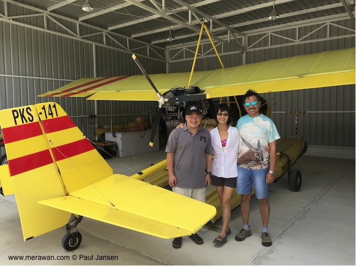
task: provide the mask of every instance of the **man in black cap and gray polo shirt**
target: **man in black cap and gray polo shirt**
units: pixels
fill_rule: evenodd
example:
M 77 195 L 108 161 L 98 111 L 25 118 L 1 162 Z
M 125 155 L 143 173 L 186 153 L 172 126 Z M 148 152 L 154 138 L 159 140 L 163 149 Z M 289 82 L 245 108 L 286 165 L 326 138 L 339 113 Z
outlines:
M 201 202 L 205 202 L 205 189 L 210 185 L 210 168 L 213 147 L 210 133 L 200 126 L 203 113 L 198 105 L 190 105 L 185 112 L 183 128 L 174 129 L 167 141 L 167 168 L 172 191 Z M 203 239 L 189 236 L 197 244 Z M 182 238 L 175 238 L 174 248 L 182 246 Z

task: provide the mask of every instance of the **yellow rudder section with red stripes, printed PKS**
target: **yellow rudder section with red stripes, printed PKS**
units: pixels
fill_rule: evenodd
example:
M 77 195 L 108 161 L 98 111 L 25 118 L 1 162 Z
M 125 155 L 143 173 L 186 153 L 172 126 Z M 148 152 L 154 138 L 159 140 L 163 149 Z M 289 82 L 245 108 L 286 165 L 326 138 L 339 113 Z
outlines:
M 66 194 L 35 106 L 1 110 L 0 127 L 24 240 L 67 224 L 71 213 L 38 204 Z

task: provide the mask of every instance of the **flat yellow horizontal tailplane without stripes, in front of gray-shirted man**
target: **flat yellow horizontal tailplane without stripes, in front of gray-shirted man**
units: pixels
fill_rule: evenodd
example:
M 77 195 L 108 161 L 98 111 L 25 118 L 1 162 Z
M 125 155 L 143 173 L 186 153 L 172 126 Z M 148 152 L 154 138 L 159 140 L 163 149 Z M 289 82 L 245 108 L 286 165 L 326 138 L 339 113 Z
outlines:
M 119 174 L 40 203 L 164 239 L 195 234 L 216 214 L 211 205 Z

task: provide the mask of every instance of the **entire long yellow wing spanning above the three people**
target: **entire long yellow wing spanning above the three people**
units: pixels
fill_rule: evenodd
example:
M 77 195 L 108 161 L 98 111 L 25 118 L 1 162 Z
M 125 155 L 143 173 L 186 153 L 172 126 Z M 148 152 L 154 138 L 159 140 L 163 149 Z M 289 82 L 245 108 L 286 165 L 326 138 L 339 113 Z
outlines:
M 190 72 L 152 74 L 160 93 L 188 85 Z M 300 55 L 210 71 L 196 71 L 191 81 L 211 97 L 300 90 L 355 84 L 355 48 Z M 81 79 L 39 96 L 88 96 L 90 100 L 152 100 L 157 96 L 143 75 Z

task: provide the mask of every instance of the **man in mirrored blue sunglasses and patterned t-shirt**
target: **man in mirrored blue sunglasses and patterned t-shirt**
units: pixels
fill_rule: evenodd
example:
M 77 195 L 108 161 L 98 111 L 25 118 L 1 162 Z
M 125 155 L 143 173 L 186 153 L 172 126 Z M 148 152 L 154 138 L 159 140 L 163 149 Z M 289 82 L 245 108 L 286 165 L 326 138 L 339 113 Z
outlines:
M 276 140 L 280 138 L 273 121 L 260 113 L 261 97 L 253 90 L 243 96 L 247 115 L 237 123 L 240 133 L 238 153 L 237 193 L 241 195 L 241 216 L 243 229 L 236 235 L 236 241 L 243 241 L 251 236 L 248 224 L 252 184 L 260 202 L 262 216 L 262 245 L 269 247 L 272 240 L 268 232 L 270 204 L 268 202 L 268 184 L 274 182 L 276 164 Z M 266 146 L 270 146 L 270 153 Z

